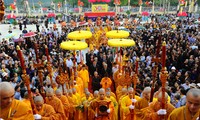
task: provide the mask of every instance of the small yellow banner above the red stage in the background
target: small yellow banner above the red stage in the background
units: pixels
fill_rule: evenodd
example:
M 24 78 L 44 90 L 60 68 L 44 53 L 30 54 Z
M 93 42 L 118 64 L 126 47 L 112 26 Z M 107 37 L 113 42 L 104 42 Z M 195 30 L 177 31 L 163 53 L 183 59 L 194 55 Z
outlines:
M 107 4 L 92 5 L 92 12 L 108 12 L 108 5 Z

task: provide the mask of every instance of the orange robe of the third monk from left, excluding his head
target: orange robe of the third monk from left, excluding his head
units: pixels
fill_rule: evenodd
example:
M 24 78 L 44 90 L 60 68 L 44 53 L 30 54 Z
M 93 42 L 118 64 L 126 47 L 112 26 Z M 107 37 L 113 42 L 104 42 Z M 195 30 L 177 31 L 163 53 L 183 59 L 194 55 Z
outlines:
M 65 112 L 64 112 L 64 106 L 63 106 L 60 99 L 53 96 L 53 100 L 51 100 L 51 101 L 46 99 L 46 104 L 49 104 L 54 108 L 54 110 L 56 111 L 56 116 L 57 116 L 58 119 L 60 119 L 60 120 L 66 119 Z

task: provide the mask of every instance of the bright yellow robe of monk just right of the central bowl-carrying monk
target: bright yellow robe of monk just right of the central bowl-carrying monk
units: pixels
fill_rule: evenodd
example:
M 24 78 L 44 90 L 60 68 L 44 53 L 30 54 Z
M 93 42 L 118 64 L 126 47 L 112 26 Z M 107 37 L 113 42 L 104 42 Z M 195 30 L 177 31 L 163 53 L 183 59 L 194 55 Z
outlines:
M 139 100 L 140 97 L 139 96 L 135 96 L 135 99 Z M 128 95 L 122 98 L 122 100 L 121 100 L 121 110 L 123 112 L 122 120 L 132 120 L 131 118 L 133 118 L 133 117 L 135 119 L 134 110 L 132 111 L 132 110 L 129 109 L 129 106 L 131 104 L 132 104 L 132 100 L 129 98 Z

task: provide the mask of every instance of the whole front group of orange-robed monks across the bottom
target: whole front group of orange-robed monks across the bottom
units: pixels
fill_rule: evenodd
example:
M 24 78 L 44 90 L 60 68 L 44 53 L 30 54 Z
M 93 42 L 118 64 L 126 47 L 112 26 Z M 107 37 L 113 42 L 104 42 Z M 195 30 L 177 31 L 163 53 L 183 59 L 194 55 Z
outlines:
M 132 87 L 123 87 L 114 94 L 109 88 L 101 88 L 94 94 L 85 89 L 81 96 L 75 88 L 63 94 L 62 90 L 46 89 L 46 98 L 34 97 L 32 110 L 27 93 L 24 100 L 13 99 L 14 89 L 8 82 L 0 83 L 1 120 L 198 120 L 200 115 L 200 89 L 190 89 L 185 106 L 176 108 L 165 93 L 165 109 L 162 109 L 162 92 L 157 92 L 153 102 L 150 87 L 141 96 L 134 95 Z M 35 113 L 33 114 L 33 111 Z

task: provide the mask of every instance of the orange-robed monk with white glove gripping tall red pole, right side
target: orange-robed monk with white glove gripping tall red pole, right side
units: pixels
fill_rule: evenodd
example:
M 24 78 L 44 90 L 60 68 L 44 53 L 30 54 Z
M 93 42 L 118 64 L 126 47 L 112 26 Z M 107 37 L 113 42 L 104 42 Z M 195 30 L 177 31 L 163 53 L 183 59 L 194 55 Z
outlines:
M 170 113 L 175 109 L 175 107 L 167 102 L 168 94 L 165 93 L 165 109 L 162 109 L 162 92 L 158 94 L 158 100 L 151 102 L 149 107 L 143 110 L 144 117 L 142 120 L 161 120 L 162 117 L 168 118 Z

